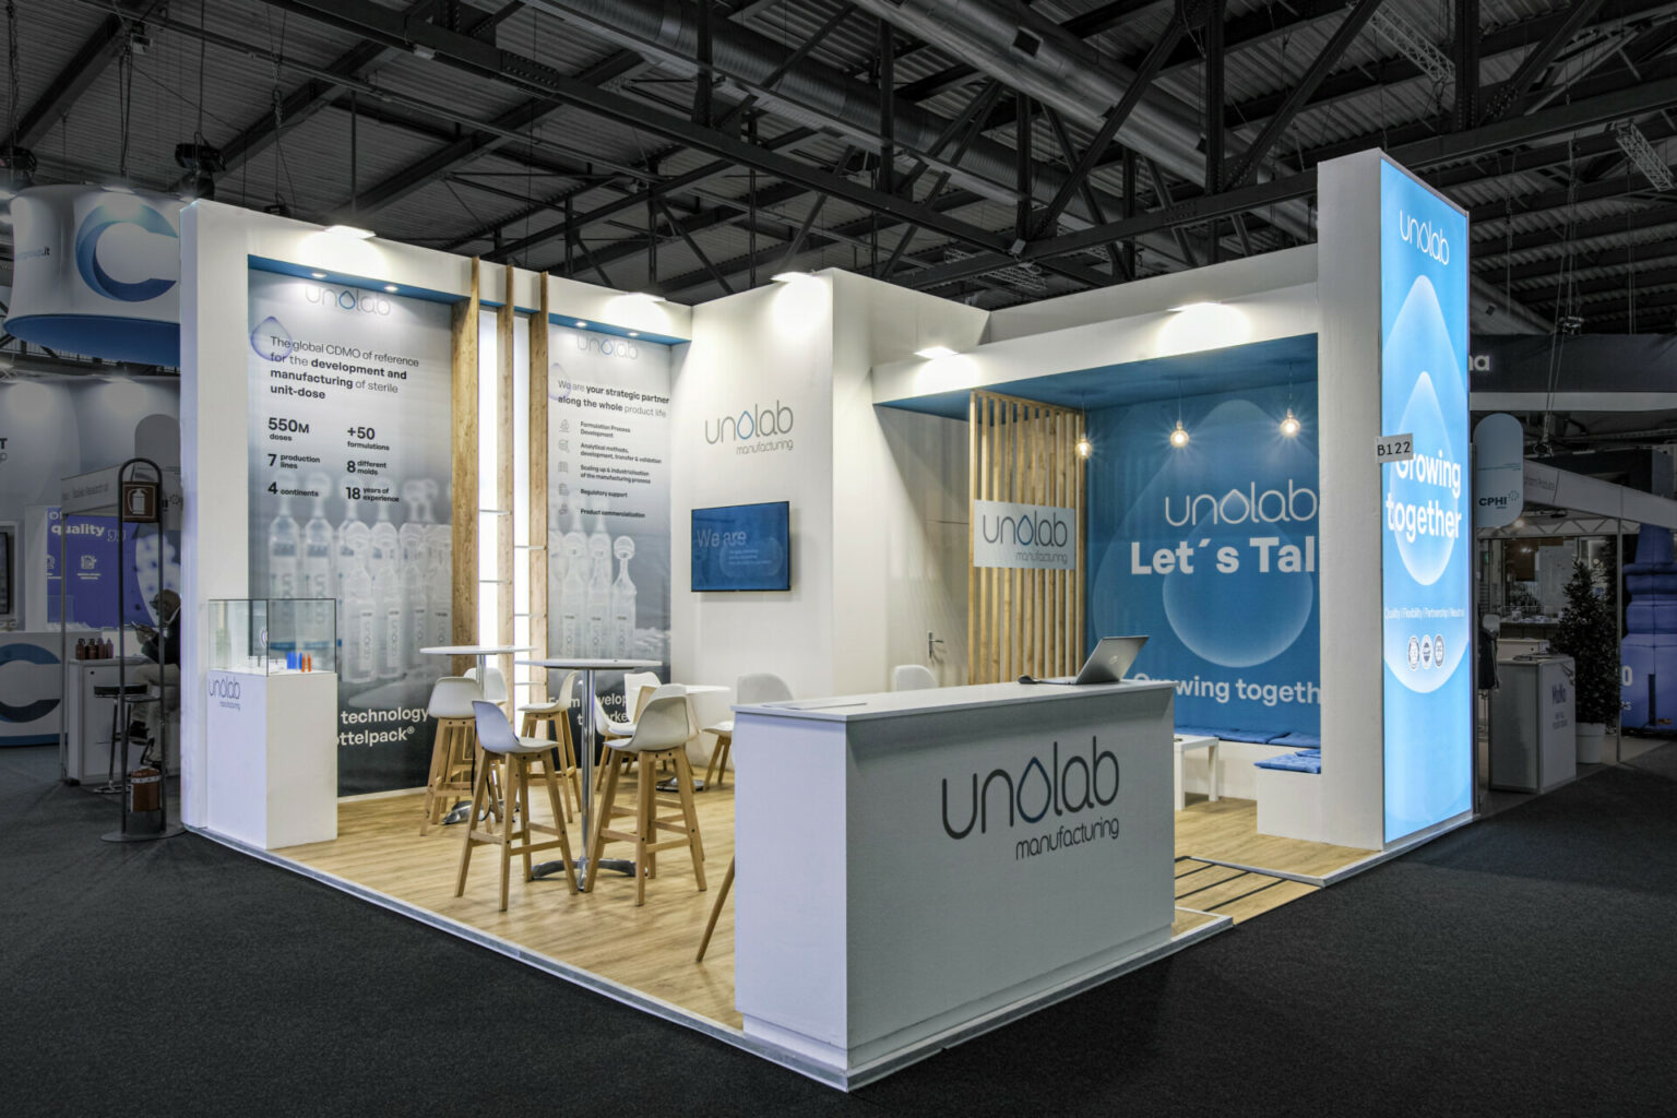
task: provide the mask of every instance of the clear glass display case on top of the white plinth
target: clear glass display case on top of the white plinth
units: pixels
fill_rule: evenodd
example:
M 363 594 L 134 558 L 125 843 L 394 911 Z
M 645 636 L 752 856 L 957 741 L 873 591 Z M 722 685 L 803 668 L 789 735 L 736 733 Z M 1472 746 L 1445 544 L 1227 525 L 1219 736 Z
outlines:
M 337 670 L 332 598 L 213 598 L 210 670 L 278 675 Z

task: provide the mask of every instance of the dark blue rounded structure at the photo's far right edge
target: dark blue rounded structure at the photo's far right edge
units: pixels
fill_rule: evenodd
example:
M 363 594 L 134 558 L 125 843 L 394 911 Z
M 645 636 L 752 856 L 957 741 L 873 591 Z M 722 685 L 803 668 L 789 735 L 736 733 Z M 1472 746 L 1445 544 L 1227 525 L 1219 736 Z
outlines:
M 1637 562 L 1625 565 L 1625 642 L 1620 694 L 1625 729 L 1670 729 L 1677 717 L 1677 562 L 1672 533 L 1642 526 Z

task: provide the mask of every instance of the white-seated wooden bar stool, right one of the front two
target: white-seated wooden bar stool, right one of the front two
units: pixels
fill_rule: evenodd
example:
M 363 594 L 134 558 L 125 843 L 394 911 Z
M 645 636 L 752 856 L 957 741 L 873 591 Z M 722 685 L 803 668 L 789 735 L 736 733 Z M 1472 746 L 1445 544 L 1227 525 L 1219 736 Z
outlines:
M 594 841 L 589 857 L 599 862 L 605 843 L 634 843 L 634 902 L 646 903 L 646 878 L 657 870 L 657 851 L 686 846 L 693 855 L 693 877 L 704 888 L 704 843 L 699 840 L 699 816 L 693 808 L 693 769 L 688 766 L 688 699 L 681 687 L 659 687 L 636 719 L 634 736 L 627 741 L 605 743 L 609 764 L 605 786 L 600 791 L 600 810 L 594 825 Z M 641 761 L 636 776 L 636 808 L 619 808 L 614 801 L 619 779 L 619 754 Z M 656 791 L 654 768 L 659 761 L 676 766 L 676 800 L 661 798 Z M 679 815 L 659 815 L 659 808 L 678 808 Z M 612 818 L 632 816 L 634 831 L 622 831 L 607 823 Z M 678 838 L 659 840 L 659 831 Z M 584 892 L 594 892 L 599 873 L 589 873 Z

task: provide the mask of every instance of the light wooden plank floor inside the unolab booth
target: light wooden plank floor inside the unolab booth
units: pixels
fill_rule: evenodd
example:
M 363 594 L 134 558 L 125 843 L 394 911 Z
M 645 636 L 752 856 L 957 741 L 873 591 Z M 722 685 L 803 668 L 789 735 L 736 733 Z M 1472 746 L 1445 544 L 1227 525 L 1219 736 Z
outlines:
M 632 805 L 626 781 L 619 803 Z M 535 816 L 550 820 L 545 798 L 532 789 Z M 523 882 L 518 862 L 506 912 L 496 910 L 500 863 L 493 846 L 478 846 L 465 897 L 454 897 L 461 828 L 433 828 L 419 835 L 419 793 L 339 805 L 339 836 L 329 843 L 278 851 L 302 865 L 387 893 L 451 920 L 506 939 L 560 962 L 622 982 L 689 1012 L 740 1027 L 733 1006 L 733 905 L 723 908 L 703 964 L 693 962 L 714 890 L 733 858 L 733 783 L 694 798 L 704 838 L 704 875 L 709 888 L 698 892 L 684 851 L 664 851 L 657 877 L 647 882 L 646 905 L 634 905 L 634 880 L 602 875 L 594 895 L 565 892 L 563 877 Z M 1315 892 L 1310 885 L 1239 873 L 1191 860 L 1192 853 L 1229 862 L 1296 868 L 1320 873 L 1338 868 L 1367 851 L 1345 851 L 1318 843 L 1259 838 L 1256 806 L 1224 800 L 1189 805 L 1176 816 L 1177 903 L 1172 935 L 1209 924 L 1218 915 L 1246 920 Z M 570 825 L 572 843 L 579 826 Z M 607 846 L 607 857 L 627 855 L 626 845 Z M 540 862 L 557 851 L 538 853 Z M 1186 858 L 1186 860 L 1184 860 Z M 1285 865 L 1281 865 L 1285 863 Z M 1187 873 L 1199 870 L 1197 873 Z M 1216 914 L 1216 915 L 1207 915 Z

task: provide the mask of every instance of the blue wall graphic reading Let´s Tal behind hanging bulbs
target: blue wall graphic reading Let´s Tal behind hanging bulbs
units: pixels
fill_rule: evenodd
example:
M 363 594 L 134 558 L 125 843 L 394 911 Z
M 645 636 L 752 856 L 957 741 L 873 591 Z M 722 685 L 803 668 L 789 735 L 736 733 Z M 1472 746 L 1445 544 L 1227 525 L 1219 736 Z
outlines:
M 1088 412 L 1090 642 L 1147 634 L 1130 677 L 1177 681 L 1179 727 L 1320 734 L 1316 382 L 1300 374 Z

